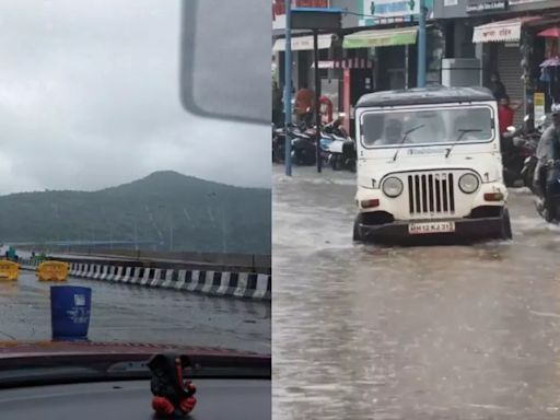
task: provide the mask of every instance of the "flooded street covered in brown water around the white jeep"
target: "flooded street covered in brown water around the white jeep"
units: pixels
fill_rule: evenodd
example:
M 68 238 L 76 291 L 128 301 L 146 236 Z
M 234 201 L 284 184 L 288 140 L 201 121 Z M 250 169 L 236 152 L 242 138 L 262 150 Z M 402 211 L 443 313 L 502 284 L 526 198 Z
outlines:
M 560 418 L 560 230 L 529 192 L 513 242 L 382 248 L 354 191 L 275 167 L 273 418 Z

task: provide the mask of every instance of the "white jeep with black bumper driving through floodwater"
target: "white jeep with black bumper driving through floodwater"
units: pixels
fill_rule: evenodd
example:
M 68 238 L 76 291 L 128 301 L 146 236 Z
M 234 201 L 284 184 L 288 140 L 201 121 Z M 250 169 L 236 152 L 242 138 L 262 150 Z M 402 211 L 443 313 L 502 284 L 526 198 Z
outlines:
M 354 241 L 512 237 L 489 90 L 372 93 L 359 100 L 355 121 Z

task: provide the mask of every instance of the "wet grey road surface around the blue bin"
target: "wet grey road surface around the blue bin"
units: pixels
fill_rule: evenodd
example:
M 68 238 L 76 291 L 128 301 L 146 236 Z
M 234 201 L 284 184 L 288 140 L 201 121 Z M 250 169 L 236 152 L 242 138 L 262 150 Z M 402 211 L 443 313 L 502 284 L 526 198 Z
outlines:
M 270 353 L 270 304 L 72 279 L 92 288 L 91 340 L 223 347 Z M 32 271 L 0 282 L 0 340 L 50 339 L 49 287 Z

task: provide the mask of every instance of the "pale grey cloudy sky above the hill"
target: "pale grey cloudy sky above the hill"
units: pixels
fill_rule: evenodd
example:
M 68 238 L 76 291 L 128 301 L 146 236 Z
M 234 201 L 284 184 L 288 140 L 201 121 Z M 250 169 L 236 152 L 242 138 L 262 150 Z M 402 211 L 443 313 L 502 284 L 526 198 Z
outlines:
M 179 12 L 178 0 L 0 2 L 0 194 L 160 170 L 270 186 L 269 126 L 182 108 Z

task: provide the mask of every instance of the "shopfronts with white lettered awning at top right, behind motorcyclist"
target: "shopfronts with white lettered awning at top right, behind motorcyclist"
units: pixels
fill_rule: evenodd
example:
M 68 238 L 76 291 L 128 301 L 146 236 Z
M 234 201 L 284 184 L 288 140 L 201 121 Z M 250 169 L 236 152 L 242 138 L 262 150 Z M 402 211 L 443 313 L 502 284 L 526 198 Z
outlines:
M 445 58 L 477 59 L 482 85 L 498 72 L 508 95 L 523 102 L 515 124 L 560 103 L 560 1 L 435 0 L 434 18 L 444 27 Z

